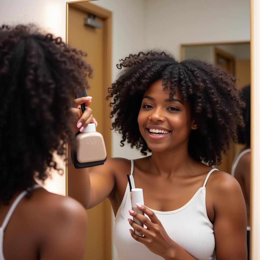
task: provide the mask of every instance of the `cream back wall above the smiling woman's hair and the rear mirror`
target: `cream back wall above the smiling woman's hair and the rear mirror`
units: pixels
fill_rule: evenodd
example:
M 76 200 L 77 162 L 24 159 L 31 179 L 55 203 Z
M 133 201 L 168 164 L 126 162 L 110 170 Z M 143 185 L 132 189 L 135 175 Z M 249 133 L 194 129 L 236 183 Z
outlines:
M 250 40 L 249 0 L 147 0 L 146 45 L 179 58 L 180 44 Z

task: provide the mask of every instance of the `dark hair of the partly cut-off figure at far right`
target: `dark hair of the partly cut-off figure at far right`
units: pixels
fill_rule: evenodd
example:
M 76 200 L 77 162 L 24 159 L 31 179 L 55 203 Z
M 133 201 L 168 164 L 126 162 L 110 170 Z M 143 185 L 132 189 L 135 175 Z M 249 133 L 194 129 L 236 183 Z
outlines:
M 251 98 L 250 98 L 250 85 L 245 86 L 244 88 L 242 88 L 242 98 L 245 102 L 245 108 L 243 109 L 243 118 L 244 118 L 244 122 L 245 122 L 245 126 L 244 127 L 239 127 L 238 128 L 238 142 L 240 144 L 245 144 L 247 146 L 250 146 L 250 124 L 251 124 L 251 120 L 250 120 L 250 115 L 251 115 Z

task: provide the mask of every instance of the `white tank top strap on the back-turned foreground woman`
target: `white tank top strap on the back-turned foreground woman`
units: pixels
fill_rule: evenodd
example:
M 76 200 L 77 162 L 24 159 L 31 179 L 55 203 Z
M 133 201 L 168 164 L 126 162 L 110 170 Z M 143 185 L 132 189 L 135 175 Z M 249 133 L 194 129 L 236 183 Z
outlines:
M 31 188 L 29 188 L 30 190 L 34 190 L 37 188 L 42 188 L 41 185 L 39 184 L 35 184 L 33 185 Z M 16 208 L 16 206 L 18 205 L 18 203 L 21 201 L 21 199 L 27 194 L 27 191 L 23 191 L 20 193 L 19 196 L 17 196 L 17 198 L 14 200 L 14 202 L 12 203 L 9 211 L 7 212 L 4 221 L 2 223 L 2 226 L 0 226 L 0 260 L 5 260 L 4 258 L 4 230 L 12 216 L 12 214 L 14 213 L 14 210 Z M 15 234 L 14 234 L 15 235 Z

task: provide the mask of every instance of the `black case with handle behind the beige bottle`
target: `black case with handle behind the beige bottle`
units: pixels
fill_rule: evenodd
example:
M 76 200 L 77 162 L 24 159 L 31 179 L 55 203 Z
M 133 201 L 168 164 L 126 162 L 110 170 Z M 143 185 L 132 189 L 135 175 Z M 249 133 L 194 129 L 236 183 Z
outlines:
M 85 90 L 78 90 L 77 94 L 76 94 L 76 99 L 77 98 L 80 98 L 80 97 L 86 97 L 87 96 L 87 93 Z M 81 104 L 81 110 L 82 110 L 82 113 L 84 113 L 85 111 L 85 104 Z M 76 135 L 75 135 L 75 139 L 77 137 L 78 134 L 81 134 L 81 132 L 77 132 Z M 87 167 L 93 167 L 93 166 L 97 166 L 97 165 L 102 165 L 104 164 L 104 162 L 106 161 L 107 158 L 105 158 L 104 160 L 100 160 L 100 161 L 91 161 L 91 162 L 79 162 L 77 160 L 77 152 L 73 149 L 71 149 L 71 159 L 72 159 L 72 162 L 74 164 L 74 167 L 76 169 L 80 169 L 80 168 L 87 168 Z

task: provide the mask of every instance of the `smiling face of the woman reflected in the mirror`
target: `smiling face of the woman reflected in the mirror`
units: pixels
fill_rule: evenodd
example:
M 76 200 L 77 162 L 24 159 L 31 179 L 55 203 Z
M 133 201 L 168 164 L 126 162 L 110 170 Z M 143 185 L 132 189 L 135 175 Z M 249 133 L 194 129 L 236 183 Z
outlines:
M 170 91 L 163 90 L 161 83 L 161 79 L 155 81 L 144 93 L 138 115 L 141 135 L 152 151 L 184 149 L 197 123 L 191 116 L 190 103 L 183 102 L 179 89 L 169 99 Z

